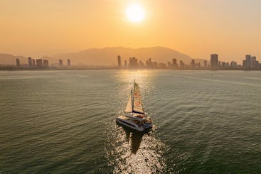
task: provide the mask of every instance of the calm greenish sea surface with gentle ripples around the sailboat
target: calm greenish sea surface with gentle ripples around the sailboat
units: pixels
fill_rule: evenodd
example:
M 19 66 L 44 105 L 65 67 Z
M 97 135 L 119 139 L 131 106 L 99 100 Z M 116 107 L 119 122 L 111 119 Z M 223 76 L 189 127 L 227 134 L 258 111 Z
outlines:
M 134 80 L 151 134 L 115 124 Z M 261 173 L 261 72 L 0 72 L 0 173 Z

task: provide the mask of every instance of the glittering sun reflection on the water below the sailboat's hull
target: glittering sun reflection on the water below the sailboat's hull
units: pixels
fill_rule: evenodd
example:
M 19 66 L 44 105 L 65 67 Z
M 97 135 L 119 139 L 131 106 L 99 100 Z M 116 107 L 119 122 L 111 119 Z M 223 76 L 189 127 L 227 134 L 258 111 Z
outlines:
M 165 146 L 153 134 L 132 134 L 117 127 L 111 141 L 113 148 L 107 151 L 114 173 L 163 173 Z

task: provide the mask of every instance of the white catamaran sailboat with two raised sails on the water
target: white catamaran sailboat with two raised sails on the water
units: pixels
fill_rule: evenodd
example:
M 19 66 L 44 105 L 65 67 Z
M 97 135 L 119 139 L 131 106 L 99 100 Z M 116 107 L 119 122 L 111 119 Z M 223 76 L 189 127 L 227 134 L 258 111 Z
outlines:
M 134 81 L 124 115 L 116 119 L 116 123 L 130 131 L 146 133 L 151 131 L 151 119 L 145 114 L 142 104 L 142 94 L 139 85 Z

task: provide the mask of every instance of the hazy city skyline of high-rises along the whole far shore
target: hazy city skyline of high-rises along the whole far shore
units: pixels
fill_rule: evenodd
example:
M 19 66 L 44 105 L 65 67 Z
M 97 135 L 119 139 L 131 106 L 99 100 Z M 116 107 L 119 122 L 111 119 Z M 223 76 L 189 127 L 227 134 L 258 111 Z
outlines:
M 124 63 L 124 64 L 123 64 Z M 32 59 L 28 57 L 28 64 L 21 64 L 20 59 L 16 58 L 16 65 L 0 65 L 0 70 L 78 70 L 78 69 L 169 69 L 169 70 L 261 70 L 261 63 L 255 56 L 245 55 L 242 65 L 238 64 L 234 60 L 231 62 L 225 62 L 218 60 L 218 54 L 211 54 L 210 60 L 203 60 L 203 62 L 196 62 L 195 59 L 191 59 L 189 64 L 176 58 L 172 58 L 168 62 L 156 62 L 151 58 L 148 58 L 145 62 L 138 60 L 135 57 L 129 58 L 129 63 L 126 59 L 122 60 L 121 55 L 117 55 L 117 65 L 112 66 L 82 66 L 74 65 L 71 67 L 70 59 L 67 60 L 67 65 L 63 65 L 63 59 L 58 60 L 58 64 L 52 64 L 49 66 L 49 60 L 46 59 Z

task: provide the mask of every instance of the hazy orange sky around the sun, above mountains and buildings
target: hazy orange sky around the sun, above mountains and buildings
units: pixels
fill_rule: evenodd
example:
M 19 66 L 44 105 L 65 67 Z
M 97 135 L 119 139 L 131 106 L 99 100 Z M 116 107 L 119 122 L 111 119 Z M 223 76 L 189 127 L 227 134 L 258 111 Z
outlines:
M 144 21 L 126 17 L 129 4 Z M 0 0 L 0 53 L 166 46 L 193 58 L 261 58 L 260 0 Z

